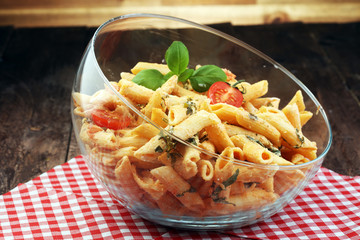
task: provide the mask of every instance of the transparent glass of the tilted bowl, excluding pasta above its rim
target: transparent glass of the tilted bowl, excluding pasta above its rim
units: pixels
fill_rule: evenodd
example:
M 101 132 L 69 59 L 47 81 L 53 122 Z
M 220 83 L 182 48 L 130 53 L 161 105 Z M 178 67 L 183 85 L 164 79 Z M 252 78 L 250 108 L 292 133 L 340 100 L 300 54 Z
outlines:
M 230 157 L 220 157 L 173 135 L 146 117 L 136 102 L 119 92 L 116 83 L 121 72 L 130 72 L 139 61 L 164 63 L 165 50 L 175 40 L 187 46 L 189 67 L 214 64 L 231 70 L 237 79 L 245 79 L 249 83 L 266 79 L 269 83 L 267 96 L 280 98 L 280 109 L 297 90 L 302 90 L 306 110 L 314 113 L 302 131 L 308 139 L 317 143 L 317 158 L 301 164 L 278 166 L 234 159 L 231 154 Z M 144 127 L 133 130 L 136 126 L 130 125 L 117 131 L 96 127 L 91 117 L 93 102 L 107 104 L 111 110 L 120 105 Z M 149 221 L 196 230 L 238 228 L 277 213 L 314 177 L 332 139 L 323 108 L 284 67 L 246 43 L 210 27 L 153 14 L 120 16 L 97 29 L 86 48 L 74 82 L 72 120 L 90 171 L 113 198 Z M 127 120 L 124 118 L 124 122 Z M 126 135 L 131 130 L 132 135 Z M 134 151 L 150 142 L 154 134 L 163 141 L 170 139 L 176 142 L 177 148 L 190 149 L 201 159 L 209 160 L 213 166 L 196 166 L 198 171 L 203 169 L 205 175 L 211 172 L 211 168 L 215 171 L 216 161 L 221 162 L 218 168 L 230 166 L 239 169 L 237 187 L 232 187 L 238 189 L 238 194 L 234 190 L 232 202 L 226 198 L 229 195 L 225 193 L 227 185 L 224 182 L 231 182 L 229 179 L 234 174 L 221 181 L 217 175 L 217 180 L 213 178 L 212 182 L 196 180 L 195 177 L 181 177 L 179 180 L 179 174 L 174 177 L 173 173 L 179 167 L 176 168 L 174 162 L 170 165 L 159 162 L 159 152 L 156 157 L 148 155 L 144 159 L 136 159 Z M 176 161 L 182 161 L 183 155 L 178 157 L 181 159 Z M 163 166 L 170 167 L 153 171 Z M 159 178 L 162 179 L 161 184 Z M 232 184 L 235 185 L 234 182 Z

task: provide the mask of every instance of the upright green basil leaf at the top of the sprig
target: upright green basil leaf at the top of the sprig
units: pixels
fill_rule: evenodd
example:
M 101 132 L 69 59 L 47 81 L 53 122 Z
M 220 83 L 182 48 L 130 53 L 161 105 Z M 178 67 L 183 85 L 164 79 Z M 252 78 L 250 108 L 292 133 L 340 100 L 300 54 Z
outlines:
M 165 60 L 169 69 L 180 75 L 189 65 L 189 51 L 182 42 L 174 41 L 166 50 Z

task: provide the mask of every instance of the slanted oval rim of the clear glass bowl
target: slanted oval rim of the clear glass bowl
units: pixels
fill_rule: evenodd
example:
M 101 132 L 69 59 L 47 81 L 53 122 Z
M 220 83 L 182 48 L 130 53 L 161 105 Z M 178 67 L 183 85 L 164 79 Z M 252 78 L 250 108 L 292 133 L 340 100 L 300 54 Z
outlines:
M 315 103 L 315 105 L 317 106 L 317 113 L 321 113 L 328 132 L 329 132 L 329 138 L 328 138 L 328 142 L 327 145 L 325 147 L 325 149 L 317 156 L 317 158 L 315 158 L 314 160 L 311 160 L 309 162 L 306 163 L 301 163 L 301 164 L 294 164 L 294 165 L 266 165 L 266 164 L 259 164 L 259 163 L 252 163 L 252 162 L 247 162 L 244 160 L 239 160 L 239 159 L 235 159 L 235 158 L 230 158 L 230 157 L 226 157 L 226 156 L 221 156 L 220 154 L 217 153 L 211 153 L 206 151 L 203 148 L 200 148 L 190 142 L 184 141 L 182 139 L 180 139 L 179 137 L 173 135 L 171 132 L 165 130 L 164 128 L 162 128 L 161 126 L 157 125 L 156 123 L 154 123 L 151 119 L 149 119 L 148 117 L 146 117 L 143 113 L 141 113 L 135 106 L 133 106 L 129 101 L 127 101 L 127 99 L 125 99 L 118 91 L 116 91 L 116 89 L 111 85 L 110 81 L 107 79 L 107 77 L 105 76 L 105 74 L 103 73 L 103 71 L 101 70 L 98 61 L 96 60 L 96 56 L 95 56 L 95 52 L 94 52 L 94 47 L 95 47 L 95 42 L 97 39 L 97 36 L 99 35 L 99 33 L 101 32 L 101 30 L 103 28 L 105 28 L 106 26 L 108 26 L 109 24 L 116 22 L 116 21 L 120 21 L 120 20 L 125 20 L 125 19 L 131 19 L 131 18 L 156 18 L 156 19 L 163 19 L 163 20 L 169 20 L 169 21 L 175 21 L 175 22 L 180 22 L 180 23 L 184 23 L 187 24 L 189 26 L 195 27 L 197 29 L 206 31 L 206 32 L 210 32 L 212 34 L 215 34 L 221 38 L 224 38 L 236 45 L 239 45 L 243 48 L 245 48 L 246 50 L 256 54 L 258 57 L 268 61 L 269 63 L 271 63 L 274 68 L 282 71 L 284 74 L 286 74 L 288 77 L 290 77 L 303 91 L 306 92 L 306 94 L 310 97 L 310 99 Z M 313 165 L 319 161 L 322 161 L 325 157 L 325 155 L 328 153 L 331 144 L 332 144 L 332 139 L 333 139 L 333 134 L 332 134 L 332 129 L 331 129 L 331 125 L 330 122 L 328 120 L 328 117 L 325 113 L 324 108 L 321 106 L 321 104 L 319 103 L 319 101 L 316 99 L 316 97 L 312 94 L 312 92 L 305 86 L 305 84 L 303 84 L 297 77 L 295 77 L 289 70 L 287 70 L 285 67 L 283 67 L 281 64 L 279 64 L 278 62 L 276 62 L 275 60 L 273 60 L 272 58 L 270 58 L 269 56 L 267 56 L 266 54 L 262 53 L 261 51 L 257 50 L 256 48 L 250 46 L 249 44 L 241 41 L 240 39 L 237 39 L 227 33 L 224 33 L 222 31 L 219 31 L 217 29 L 214 29 L 212 27 L 209 27 L 207 25 L 203 25 L 203 24 L 199 24 L 196 22 L 192 22 L 189 20 L 185 20 L 182 18 L 178 18 L 178 17 L 173 17 L 173 16 L 168 16 L 168 15 L 161 15 L 161 14 L 153 14 L 153 13 L 131 13 L 131 14 L 125 14 L 125 15 L 120 15 L 114 18 L 109 19 L 108 21 L 104 22 L 103 24 L 101 24 L 95 31 L 95 33 L 92 36 L 92 39 L 90 41 L 89 44 L 90 49 L 88 49 L 89 51 L 92 51 L 94 54 L 92 54 L 92 56 L 94 57 L 94 62 L 95 67 L 97 68 L 97 71 L 99 73 L 99 75 L 101 76 L 101 78 L 103 79 L 104 83 L 109 87 L 109 89 L 111 89 L 115 95 L 117 95 L 117 97 L 119 97 L 126 105 L 127 107 L 129 107 L 132 111 L 134 111 L 136 114 L 138 114 L 140 117 L 142 117 L 145 121 L 147 121 L 148 123 L 150 123 L 151 125 L 153 125 L 154 127 L 156 127 L 157 129 L 160 130 L 160 133 L 165 133 L 166 135 L 169 135 L 171 138 L 175 139 L 176 141 L 193 147 L 201 152 L 203 152 L 204 154 L 210 155 L 212 157 L 216 157 L 219 158 L 221 157 L 222 159 L 225 160 L 232 160 L 234 162 L 234 164 L 237 165 L 242 165 L 242 166 L 246 166 L 246 167 L 256 167 L 256 168 L 262 168 L 262 169 L 267 169 L 267 170 L 297 170 L 297 169 L 301 169 L 301 168 L 305 168 L 308 165 Z

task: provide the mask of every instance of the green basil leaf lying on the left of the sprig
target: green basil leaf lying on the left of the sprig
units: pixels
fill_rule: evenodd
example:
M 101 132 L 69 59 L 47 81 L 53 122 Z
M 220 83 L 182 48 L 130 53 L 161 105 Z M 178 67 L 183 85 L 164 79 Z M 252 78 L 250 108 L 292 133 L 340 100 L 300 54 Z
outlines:
M 166 82 L 166 79 L 156 69 L 145 69 L 136 74 L 132 81 L 141 86 L 156 90 Z

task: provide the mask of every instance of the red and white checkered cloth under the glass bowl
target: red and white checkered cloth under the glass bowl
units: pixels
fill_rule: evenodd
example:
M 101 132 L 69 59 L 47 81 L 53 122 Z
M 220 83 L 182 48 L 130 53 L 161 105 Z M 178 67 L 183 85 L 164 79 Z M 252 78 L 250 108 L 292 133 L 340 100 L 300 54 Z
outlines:
M 360 176 L 321 168 L 281 212 L 226 232 L 153 224 L 114 201 L 81 157 L 0 196 L 0 239 L 360 239 Z

